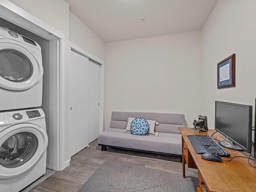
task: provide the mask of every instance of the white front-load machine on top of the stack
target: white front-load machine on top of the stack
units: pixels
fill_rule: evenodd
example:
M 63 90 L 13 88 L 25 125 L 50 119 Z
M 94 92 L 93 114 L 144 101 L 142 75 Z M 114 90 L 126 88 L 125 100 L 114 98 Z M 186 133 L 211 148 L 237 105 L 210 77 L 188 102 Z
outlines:
M 41 106 L 43 71 L 38 43 L 0 27 L 0 111 Z

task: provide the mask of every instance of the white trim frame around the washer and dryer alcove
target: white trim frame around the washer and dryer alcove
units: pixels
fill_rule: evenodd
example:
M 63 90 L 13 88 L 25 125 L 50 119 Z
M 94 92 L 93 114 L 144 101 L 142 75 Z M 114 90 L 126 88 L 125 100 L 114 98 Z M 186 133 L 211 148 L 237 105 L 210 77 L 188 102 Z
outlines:
M 53 103 L 49 124 L 52 127 L 49 137 L 52 163 L 48 167 L 63 170 L 70 164 L 70 160 L 65 159 L 65 35 L 8 0 L 0 0 L 0 17 L 50 41 L 50 99 Z

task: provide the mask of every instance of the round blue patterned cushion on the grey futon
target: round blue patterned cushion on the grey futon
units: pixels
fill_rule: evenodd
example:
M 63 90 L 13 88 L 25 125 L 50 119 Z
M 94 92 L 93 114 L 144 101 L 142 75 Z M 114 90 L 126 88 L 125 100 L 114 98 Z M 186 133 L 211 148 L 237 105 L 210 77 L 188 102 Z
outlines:
M 148 129 L 150 129 L 150 125 L 142 117 L 135 118 L 131 122 L 131 133 L 134 135 L 146 135 Z

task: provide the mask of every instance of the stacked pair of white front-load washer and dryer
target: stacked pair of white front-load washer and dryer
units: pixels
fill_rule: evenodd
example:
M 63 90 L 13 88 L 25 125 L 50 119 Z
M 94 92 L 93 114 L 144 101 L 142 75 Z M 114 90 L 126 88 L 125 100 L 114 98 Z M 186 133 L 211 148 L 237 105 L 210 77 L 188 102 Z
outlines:
M 46 172 L 42 56 L 37 42 L 0 28 L 0 190 L 16 192 Z

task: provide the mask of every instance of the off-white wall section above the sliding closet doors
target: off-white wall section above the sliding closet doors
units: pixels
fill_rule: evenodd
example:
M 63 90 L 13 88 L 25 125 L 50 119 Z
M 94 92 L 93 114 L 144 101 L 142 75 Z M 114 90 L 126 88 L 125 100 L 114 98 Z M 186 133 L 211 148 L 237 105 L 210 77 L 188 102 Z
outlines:
M 104 41 L 97 36 L 90 28 L 84 25 L 79 18 L 72 12 L 69 12 L 69 38 L 70 42 L 79 46 L 83 50 L 93 54 L 94 56 L 104 60 L 105 44 Z

